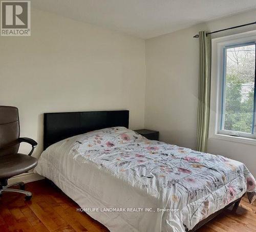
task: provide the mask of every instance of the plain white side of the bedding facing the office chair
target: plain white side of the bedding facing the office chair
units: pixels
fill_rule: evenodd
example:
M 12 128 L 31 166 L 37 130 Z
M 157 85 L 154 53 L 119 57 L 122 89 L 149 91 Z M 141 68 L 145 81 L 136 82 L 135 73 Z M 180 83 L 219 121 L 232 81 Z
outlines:
M 53 181 L 81 208 L 157 208 L 157 199 L 148 196 L 96 166 L 74 160 L 66 151 L 72 142 L 58 142 L 40 157 L 34 172 Z M 54 149 L 56 148 L 56 149 Z M 93 209 L 92 209 L 93 210 Z M 87 212 L 110 231 L 161 230 L 162 213 Z M 169 231 L 169 230 L 168 230 Z M 175 230 L 174 230 L 175 231 Z M 182 230 L 180 230 L 182 231 Z

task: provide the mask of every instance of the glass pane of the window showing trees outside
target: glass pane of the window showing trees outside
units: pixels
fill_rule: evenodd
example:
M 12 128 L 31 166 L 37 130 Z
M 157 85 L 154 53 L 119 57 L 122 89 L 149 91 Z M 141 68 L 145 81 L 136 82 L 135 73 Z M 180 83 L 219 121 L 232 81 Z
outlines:
M 224 51 L 222 129 L 253 133 L 255 44 Z

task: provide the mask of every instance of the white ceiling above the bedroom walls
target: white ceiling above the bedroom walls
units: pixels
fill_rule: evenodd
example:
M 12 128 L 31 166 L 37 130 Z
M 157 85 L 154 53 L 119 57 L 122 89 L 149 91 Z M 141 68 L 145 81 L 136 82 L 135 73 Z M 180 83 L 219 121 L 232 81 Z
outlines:
M 256 1 L 32 0 L 31 6 L 147 39 L 255 9 Z

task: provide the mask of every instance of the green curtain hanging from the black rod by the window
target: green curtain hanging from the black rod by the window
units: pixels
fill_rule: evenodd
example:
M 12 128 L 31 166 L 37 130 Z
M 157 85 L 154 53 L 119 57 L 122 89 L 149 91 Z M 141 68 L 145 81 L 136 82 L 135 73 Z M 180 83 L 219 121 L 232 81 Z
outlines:
M 197 117 L 197 150 L 206 152 L 210 115 L 210 66 L 211 39 L 206 32 L 199 32 L 199 90 Z

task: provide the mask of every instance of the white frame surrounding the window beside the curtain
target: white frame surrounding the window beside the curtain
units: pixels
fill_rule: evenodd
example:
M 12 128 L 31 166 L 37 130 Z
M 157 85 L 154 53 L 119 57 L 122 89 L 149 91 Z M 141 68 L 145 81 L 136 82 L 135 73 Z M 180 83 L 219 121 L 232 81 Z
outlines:
M 254 134 L 221 130 L 222 117 L 222 85 L 223 85 L 223 50 L 230 44 L 241 44 L 256 41 L 256 31 L 250 31 L 211 40 L 211 98 L 209 139 L 222 139 L 232 142 L 256 145 L 256 117 L 254 119 Z M 255 114 L 256 115 L 256 114 Z

